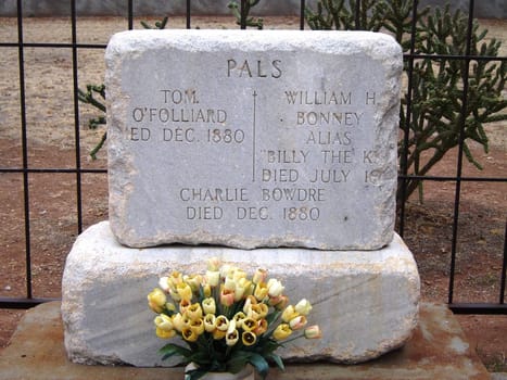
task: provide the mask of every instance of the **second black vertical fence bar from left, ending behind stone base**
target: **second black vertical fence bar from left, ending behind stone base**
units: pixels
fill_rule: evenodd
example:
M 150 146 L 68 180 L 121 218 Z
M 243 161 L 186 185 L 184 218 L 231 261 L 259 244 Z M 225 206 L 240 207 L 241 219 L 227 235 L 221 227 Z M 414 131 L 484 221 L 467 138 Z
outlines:
M 83 231 L 83 201 L 81 201 L 81 149 L 79 131 L 79 99 L 78 99 L 78 73 L 77 73 L 77 15 L 76 0 L 71 1 L 71 27 L 72 27 L 72 73 L 74 91 L 74 149 L 76 161 L 76 210 L 77 232 Z

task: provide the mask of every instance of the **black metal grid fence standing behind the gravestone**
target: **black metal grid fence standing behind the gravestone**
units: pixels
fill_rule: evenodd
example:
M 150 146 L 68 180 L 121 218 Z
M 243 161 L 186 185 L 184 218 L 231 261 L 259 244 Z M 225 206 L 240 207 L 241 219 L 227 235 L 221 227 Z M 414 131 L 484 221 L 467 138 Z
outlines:
M 17 16 L 2 18 L 0 27 L 3 30 L 0 77 L 4 78 L 0 84 L 3 194 L 0 308 L 27 308 L 59 299 L 65 255 L 73 241 L 84 228 L 106 218 L 105 155 L 99 155 L 98 160 L 89 157 L 103 129 L 88 128 L 94 111 L 79 101 L 79 89 L 101 83 L 107 37 L 140 27 L 141 17 L 134 13 L 135 3 L 130 0 L 125 1 L 125 17 L 81 18 L 76 1 L 68 2 L 68 18 L 37 20 L 24 13 L 23 1 L 18 0 Z M 249 26 L 245 0 L 238 2 L 238 20 L 225 17 L 215 24 L 206 24 L 214 17 L 193 16 L 191 0 L 183 2 L 185 15 L 169 15 L 170 27 Z M 366 2 L 352 3 L 350 28 L 367 28 Z M 504 67 L 505 77 L 507 58 L 505 50 L 496 55 L 474 50 L 473 10 L 474 2 L 470 1 L 464 25 L 464 49 L 448 49 L 445 53 L 422 51 L 417 45 L 416 21 L 421 12 L 417 0 L 410 2 L 409 13 L 403 20 L 408 37 L 404 40 L 406 89 L 401 125 L 397 231 L 420 266 L 423 296 L 447 302 L 455 313 L 507 314 L 507 177 L 502 162 L 506 154 L 505 147 L 502 148 L 505 122 L 493 123 L 487 130 L 490 140 L 497 138 L 500 143 L 499 148 L 492 148 L 498 151 L 497 156 L 482 155 L 484 170 L 474 170 L 468 160 L 470 150 L 478 152 L 482 147 L 467 142 L 477 67 L 483 62 L 482 69 L 487 72 L 496 64 Z M 283 27 L 309 28 L 309 11 L 304 0 L 297 12 L 299 16 L 281 21 Z M 154 25 L 161 17 L 145 18 L 147 24 Z M 410 145 L 410 139 L 417 137 L 410 123 L 421 112 L 417 80 L 424 62 L 430 62 L 432 69 L 451 67 L 454 62 L 464 73 L 459 78 L 460 91 L 456 99 L 451 99 L 460 107 L 453 131 L 456 147 L 449 151 L 449 159 L 442 161 L 445 165 L 427 172 L 421 168 L 431 159 L 421 153 L 415 160 Z M 505 80 L 498 84 L 504 85 Z M 480 116 L 472 115 L 472 119 Z M 444 113 L 442 118 L 445 117 Z M 414 160 L 418 165 L 415 170 L 410 166 Z M 478 229 L 480 232 L 476 233 Z

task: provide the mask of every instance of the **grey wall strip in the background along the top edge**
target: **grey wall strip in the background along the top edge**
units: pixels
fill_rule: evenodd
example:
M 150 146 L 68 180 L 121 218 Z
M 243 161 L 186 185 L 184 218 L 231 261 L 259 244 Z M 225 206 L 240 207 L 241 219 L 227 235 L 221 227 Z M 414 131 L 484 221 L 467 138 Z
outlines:
M 230 14 L 227 4 L 230 0 L 192 0 L 191 12 L 197 14 Z M 307 0 L 306 4 L 315 9 L 317 0 Z M 453 9 L 468 11 L 469 0 L 449 0 Z M 421 0 L 419 7 L 427 4 L 442 7 L 441 0 Z M 24 14 L 28 16 L 56 16 L 68 15 L 71 4 L 68 0 L 25 0 L 23 1 Z M 161 15 L 161 14 L 185 14 L 186 1 L 159 1 L 143 0 L 134 1 L 135 15 Z M 127 2 L 125 0 L 81 0 L 76 1 L 77 13 L 80 16 L 118 15 L 127 14 Z M 261 1 L 253 13 L 259 15 L 299 15 L 300 0 Z M 476 2 L 477 17 L 507 17 L 507 8 L 504 0 L 483 0 Z M 16 2 L 0 2 L 0 15 L 16 15 Z

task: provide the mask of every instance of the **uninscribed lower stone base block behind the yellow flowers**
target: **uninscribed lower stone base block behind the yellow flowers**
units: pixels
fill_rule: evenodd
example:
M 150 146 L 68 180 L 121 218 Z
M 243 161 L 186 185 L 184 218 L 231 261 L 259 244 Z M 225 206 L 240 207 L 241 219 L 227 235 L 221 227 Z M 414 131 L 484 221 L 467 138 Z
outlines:
M 62 284 L 62 317 L 69 358 L 83 364 L 161 365 L 163 345 L 153 331 L 145 296 L 169 270 L 203 273 L 212 256 L 257 267 L 286 286 L 295 303 L 310 300 L 310 324 L 324 338 L 288 344 L 296 360 L 357 363 L 403 345 L 417 325 L 419 276 L 411 253 L 396 236 L 375 252 L 214 246 L 127 249 L 109 223 L 90 227 L 67 257 Z M 167 363 L 168 365 L 170 363 Z

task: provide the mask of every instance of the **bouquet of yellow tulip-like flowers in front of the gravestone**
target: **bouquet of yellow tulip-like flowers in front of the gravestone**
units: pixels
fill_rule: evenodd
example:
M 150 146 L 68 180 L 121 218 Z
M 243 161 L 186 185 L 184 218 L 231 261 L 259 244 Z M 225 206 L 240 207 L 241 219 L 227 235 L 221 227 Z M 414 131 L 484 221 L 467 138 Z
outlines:
M 204 276 L 183 276 L 174 271 L 159 281 L 148 294 L 156 335 L 182 338 L 187 346 L 168 343 L 160 350 L 163 359 L 181 356 L 181 364 L 192 363 L 189 379 L 206 372 L 237 373 L 248 364 L 265 378 L 274 362 L 283 369 L 275 351 L 297 338 L 321 337 L 318 326 L 306 327 L 312 305 L 301 300 L 289 304 L 284 287 L 267 280 L 267 270 L 246 273 L 229 265 L 208 262 Z

